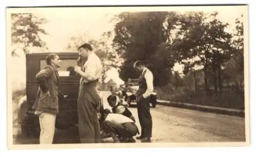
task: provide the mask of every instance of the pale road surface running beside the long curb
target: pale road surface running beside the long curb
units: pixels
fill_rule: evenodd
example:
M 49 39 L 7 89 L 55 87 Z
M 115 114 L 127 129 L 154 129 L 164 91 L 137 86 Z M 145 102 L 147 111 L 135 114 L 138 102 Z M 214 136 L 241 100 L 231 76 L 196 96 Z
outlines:
M 104 108 L 109 92 L 103 92 Z M 129 107 L 140 129 L 137 108 Z M 153 118 L 153 142 L 245 142 L 245 120 L 242 117 L 206 113 L 194 110 L 157 105 L 151 108 Z M 72 137 L 77 128 L 55 133 L 54 143 L 77 143 Z M 66 139 L 66 140 L 65 140 Z M 67 140 L 69 139 L 69 140 Z M 15 143 L 37 144 L 36 139 Z M 136 142 L 140 142 L 136 140 Z

